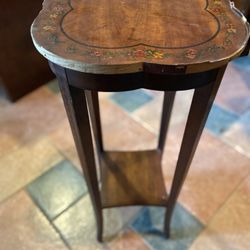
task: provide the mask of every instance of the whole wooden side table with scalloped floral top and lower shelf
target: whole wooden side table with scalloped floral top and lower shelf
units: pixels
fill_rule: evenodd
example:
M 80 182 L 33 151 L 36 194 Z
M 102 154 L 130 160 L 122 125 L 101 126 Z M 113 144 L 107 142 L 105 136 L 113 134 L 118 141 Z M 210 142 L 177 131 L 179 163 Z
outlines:
M 173 209 L 227 63 L 248 41 L 244 16 L 228 0 L 45 0 L 31 34 L 59 81 L 98 240 L 102 209 L 130 205 L 166 207 L 169 237 Z M 158 147 L 107 152 L 98 91 L 137 88 L 164 91 Z M 168 123 L 176 91 L 188 89 L 194 96 L 167 193 L 161 159 Z

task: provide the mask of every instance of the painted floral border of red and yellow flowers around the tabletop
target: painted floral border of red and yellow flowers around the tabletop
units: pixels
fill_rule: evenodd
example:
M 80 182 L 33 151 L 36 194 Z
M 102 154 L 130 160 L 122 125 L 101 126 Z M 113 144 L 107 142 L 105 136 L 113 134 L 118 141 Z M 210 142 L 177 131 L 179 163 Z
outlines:
M 68 4 L 68 3 L 67 3 Z M 202 59 L 209 54 L 215 54 L 219 51 L 225 50 L 227 47 L 233 44 L 233 37 L 237 34 L 237 28 L 231 23 L 230 18 L 227 16 L 227 12 L 222 6 L 222 0 L 210 0 L 207 10 L 213 13 L 225 27 L 224 41 L 221 45 L 213 44 L 209 47 L 203 49 L 181 49 L 181 52 L 168 53 L 167 49 L 148 49 L 148 48 L 129 48 L 129 49 L 117 49 L 117 50 L 107 50 L 107 49 L 79 49 L 74 44 L 66 48 L 66 52 L 69 54 L 78 53 L 83 56 L 88 56 L 91 58 L 102 58 L 102 59 L 112 59 L 112 58 L 125 58 L 125 59 L 168 59 L 172 58 L 185 58 L 187 60 Z M 49 11 L 49 20 L 42 27 L 43 31 L 49 33 L 47 35 L 48 41 L 52 45 L 59 44 L 61 41 L 58 38 L 56 28 L 58 25 L 58 20 L 60 20 L 67 11 L 65 10 L 65 0 L 57 0 L 55 7 Z

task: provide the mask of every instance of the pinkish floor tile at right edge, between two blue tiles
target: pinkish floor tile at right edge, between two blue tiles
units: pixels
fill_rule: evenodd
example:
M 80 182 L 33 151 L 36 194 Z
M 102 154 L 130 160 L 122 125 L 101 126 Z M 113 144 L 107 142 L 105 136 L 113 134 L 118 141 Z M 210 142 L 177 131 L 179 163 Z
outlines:
M 250 62 L 249 58 L 241 58 Z M 250 107 L 250 68 L 239 69 L 236 63 L 230 63 L 223 77 L 215 102 L 237 114 L 244 113 Z

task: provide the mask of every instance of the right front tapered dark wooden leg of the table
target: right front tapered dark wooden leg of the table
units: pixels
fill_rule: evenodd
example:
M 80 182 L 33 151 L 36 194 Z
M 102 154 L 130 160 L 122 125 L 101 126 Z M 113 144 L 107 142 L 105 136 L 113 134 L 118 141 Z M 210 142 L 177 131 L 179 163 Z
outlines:
M 167 204 L 164 225 L 166 237 L 170 236 L 172 213 L 225 69 L 226 67 L 223 67 L 218 70 L 214 82 L 195 89 Z

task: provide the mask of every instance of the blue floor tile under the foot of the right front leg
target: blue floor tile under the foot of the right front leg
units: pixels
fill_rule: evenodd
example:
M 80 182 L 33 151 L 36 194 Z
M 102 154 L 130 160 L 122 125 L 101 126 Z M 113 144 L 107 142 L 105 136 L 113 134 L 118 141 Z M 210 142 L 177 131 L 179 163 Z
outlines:
M 142 235 L 152 249 L 188 249 L 203 225 L 186 209 L 177 204 L 171 224 L 171 238 L 163 232 L 165 209 L 145 207 L 132 223 L 132 228 Z

